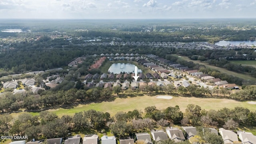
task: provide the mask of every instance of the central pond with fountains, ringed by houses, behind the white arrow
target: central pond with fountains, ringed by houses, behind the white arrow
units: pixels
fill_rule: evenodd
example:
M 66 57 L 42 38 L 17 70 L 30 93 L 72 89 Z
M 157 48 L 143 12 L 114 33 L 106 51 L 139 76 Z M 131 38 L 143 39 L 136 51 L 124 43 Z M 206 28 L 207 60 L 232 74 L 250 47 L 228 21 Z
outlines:
M 114 73 L 114 74 L 120 74 L 120 72 L 134 72 L 135 71 L 135 65 L 134 64 L 124 64 L 124 63 L 117 63 L 112 64 L 110 68 L 108 69 L 108 72 Z M 139 68 L 137 68 L 137 73 L 142 72 Z

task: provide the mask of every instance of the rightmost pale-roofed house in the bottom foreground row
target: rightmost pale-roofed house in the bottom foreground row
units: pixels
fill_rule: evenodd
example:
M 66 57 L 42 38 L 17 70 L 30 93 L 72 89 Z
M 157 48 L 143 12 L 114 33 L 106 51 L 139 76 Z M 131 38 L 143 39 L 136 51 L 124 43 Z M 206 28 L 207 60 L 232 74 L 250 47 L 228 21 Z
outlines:
M 242 144 L 256 144 L 256 136 L 251 132 L 237 131 L 238 137 Z

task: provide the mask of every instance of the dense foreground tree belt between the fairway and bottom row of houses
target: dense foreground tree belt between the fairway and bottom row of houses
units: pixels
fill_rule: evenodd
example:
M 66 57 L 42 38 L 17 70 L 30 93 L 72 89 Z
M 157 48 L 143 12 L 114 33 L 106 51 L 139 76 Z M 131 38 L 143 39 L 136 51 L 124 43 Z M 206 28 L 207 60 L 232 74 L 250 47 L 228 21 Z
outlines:
M 136 140 L 135 133 L 150 132 L 154 128 L 164 129 L 173 124 L 196 126 L 198 130 L 196 140 L 222 144 L 221 136 L 209 134 L 208 127 L 236 130 L 240 126 L 256 126 L 256 112 L 242 107 L 206 111 L 198 105 L 188 104 L 185 112 L 181 112 L 179 106 L 170 106 L 162 110 L 157 109 L 156 106 L 149 106 L 144 109 L 144 112 L 135 109 L 129 112 L 117 112 L 114 116 L 108 112 L 96 110 L 77 112 L 74 116 L 64 115 L 62 117 L 48 111 L 42 111 L 36 116 L 24 113 L 18 118 L 13 118 L 10 114 L 1 114 L 0 134 L 26 135 L 30 140 L 32 138 L 40 140 L 41 138 L 66 138 L 70 132 L 106 134 L 111 131 L 117 138 L 132 136 Z M 203 128 L 205 136 L 202 134 Z M 170 143 L 172 144 L 172 141 Z

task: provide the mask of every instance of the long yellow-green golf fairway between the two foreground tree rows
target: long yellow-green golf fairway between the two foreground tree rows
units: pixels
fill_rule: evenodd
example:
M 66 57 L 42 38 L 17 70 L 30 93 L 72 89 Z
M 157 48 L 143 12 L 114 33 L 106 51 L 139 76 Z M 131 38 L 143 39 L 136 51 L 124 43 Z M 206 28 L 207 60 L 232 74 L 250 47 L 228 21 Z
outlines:
M 239 102 L 236 100 L 230 99 L 221 99 L 221 98 L 195 98 L 195 97 L 181 97 L 174 96 L 170 100 L 166 99 L 158 99 L 156 96 L 136 96 L 136 97 L 128 97 L 128 98 L 116 98 L 112 102 L 100 102 L 100 103 L 91 103 L 91 104 L 80 104 L 74 108 L 64 109 L 64 108 L 56 108 L 47 110 L 49 112 L 53 112 L 57 114 L 59 117 L 63 115 L 73 116 L 76 112 L 82 112 L 84 110 L 94 109 L 102 112 L 109 112 L 112 116 L 116 114 L 116 112 L 123 111 L 128 112 L 134 109 L 141 110 L 144 112 L 144 108 L 148 106 L 156 106 L 158 109 L 164 109 L 169 106 L 178 105 L 182 112 L 185 111 L 188 104 L 196 104 L 201 106 L 202 109 L 205 110 L 220 110 L 224 107 L 233 109 L 236 106 L 248 108 L 251 111 L 256 110 L 256 105 L 248 104 L 247 102 Z M 12 113 L 11 115 L 16 118 L 18 115 L 25 113 Z M 30 112 L 32 115 L 38 115 L 38 112 Z

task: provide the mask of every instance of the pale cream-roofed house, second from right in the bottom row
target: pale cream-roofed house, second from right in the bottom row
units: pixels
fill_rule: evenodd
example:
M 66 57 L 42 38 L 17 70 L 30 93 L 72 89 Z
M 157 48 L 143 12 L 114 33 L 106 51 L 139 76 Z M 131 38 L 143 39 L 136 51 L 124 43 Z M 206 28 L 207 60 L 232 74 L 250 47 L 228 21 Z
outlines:
M 219 128 L 220 135 L 224 141 L 224 144 L 233 144 L 233 142 L 238 142 L 237 134 L 231 130 L 225 130 L 224 128 Z

